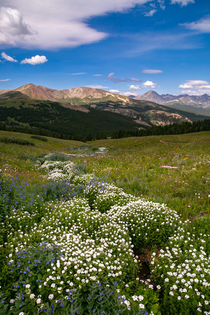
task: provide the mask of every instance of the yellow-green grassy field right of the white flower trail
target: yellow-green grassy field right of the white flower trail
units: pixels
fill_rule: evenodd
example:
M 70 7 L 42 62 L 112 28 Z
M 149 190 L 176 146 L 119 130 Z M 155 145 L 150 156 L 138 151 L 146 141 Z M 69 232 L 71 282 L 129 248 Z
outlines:
M 88 167 L 134 195 L 164 202 L 184 218 L 209 213 L 210 133 L 94 141 L 107 155 Z

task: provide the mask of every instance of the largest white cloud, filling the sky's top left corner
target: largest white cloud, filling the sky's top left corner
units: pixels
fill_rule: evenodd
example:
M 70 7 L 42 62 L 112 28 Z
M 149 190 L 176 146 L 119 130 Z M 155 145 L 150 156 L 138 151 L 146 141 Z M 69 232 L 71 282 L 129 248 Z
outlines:
M 125 13 L 150 1 L 1 0 L 1 43 L 44 49 L 94 43 L 108 34 L 90 27 L 87 23 L 90 18 Z

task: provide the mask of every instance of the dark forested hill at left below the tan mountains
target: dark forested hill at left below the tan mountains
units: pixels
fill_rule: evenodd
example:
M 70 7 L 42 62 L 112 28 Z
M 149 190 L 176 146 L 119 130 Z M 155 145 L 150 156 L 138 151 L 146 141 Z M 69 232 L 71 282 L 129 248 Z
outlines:
M 89 109 L 88 113 L 75 111 L 57 102 L 0 106 L 0 129 L 13 132 L 38 134 L 47 137 L 91 141 L 106 139 L 117 129 L 134 130 L 137 123 L 132 118 L 110 111 Z

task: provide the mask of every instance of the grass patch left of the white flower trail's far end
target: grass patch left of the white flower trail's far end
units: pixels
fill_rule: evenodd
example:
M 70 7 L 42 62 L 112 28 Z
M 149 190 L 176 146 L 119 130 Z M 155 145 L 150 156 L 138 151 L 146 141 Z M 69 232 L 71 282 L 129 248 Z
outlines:
M 18 137 L 30 140 L 31 135 L 19 132 L 0 132 L 0 137 Z M 33 139 L 35 146 L 0 143 L 0 173 L 3 176 L 17 176 L 22 181 L 31 183 L 44 181 L 43 173 L 38 172 L 34 161 L 40 155 L 56 152 L 69 153 L 68 148 L 83 144 L 80 141 L 70 141 L 47 137 L 48 141 Z

